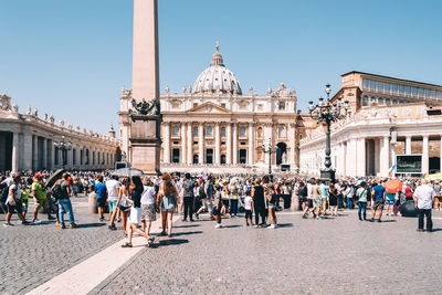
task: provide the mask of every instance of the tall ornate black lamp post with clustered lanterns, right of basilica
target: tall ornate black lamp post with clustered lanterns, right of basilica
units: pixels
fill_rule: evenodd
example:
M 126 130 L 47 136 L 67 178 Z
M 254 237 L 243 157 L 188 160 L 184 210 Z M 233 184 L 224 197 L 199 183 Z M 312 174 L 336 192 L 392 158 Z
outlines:
M 320 170 L 320 179 L 325 181 L 335 181 L 335 170 L 332 169 L 332 148 L 330 148 L 330 125 L 332 122 L 343 119 L 347 116 L 349 109 L 348 101 L 343 104 L 343 98 L 338 97 L 337 102 L 332 104 L 330 102 L 330 84 L 325 85 L 325 93 L 327 94 L 327 101 L 320 97 L 317 105 L 309 102 L 308 110 L 311 117 L 317 120 L 319 124 L 325 123 L 327 126 L 326 131 L 326 148 L 325 148 L 325 168 Z

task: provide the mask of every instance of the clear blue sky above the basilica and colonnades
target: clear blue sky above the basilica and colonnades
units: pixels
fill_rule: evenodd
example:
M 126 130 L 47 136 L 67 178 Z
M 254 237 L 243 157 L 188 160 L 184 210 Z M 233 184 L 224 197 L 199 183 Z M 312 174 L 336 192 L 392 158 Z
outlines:
M 193 84 L 215 41 L 245 93 L 285 82 L 302 108 L 352 70 L 442 84 L 441 11 L 438 0 L 159 0 L 161 89 Z M 0 0 L 0 93 L 57 122 L 118 125 L 133 0 Z

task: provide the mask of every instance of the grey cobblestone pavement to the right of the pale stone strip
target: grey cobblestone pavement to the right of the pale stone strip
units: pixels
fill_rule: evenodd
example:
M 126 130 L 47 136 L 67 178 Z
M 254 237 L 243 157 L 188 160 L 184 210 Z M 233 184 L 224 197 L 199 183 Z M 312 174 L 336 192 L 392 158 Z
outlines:
M 439 213 L 439 212 L 438 212 Z M 440 214 L 439 214 L 440 215 Z M 180 222 L 91 294 L 440 294 L 442 220 L 433 233 L 417 220 L 303 220 L 280 214 L 280 228 L 243 219 Z

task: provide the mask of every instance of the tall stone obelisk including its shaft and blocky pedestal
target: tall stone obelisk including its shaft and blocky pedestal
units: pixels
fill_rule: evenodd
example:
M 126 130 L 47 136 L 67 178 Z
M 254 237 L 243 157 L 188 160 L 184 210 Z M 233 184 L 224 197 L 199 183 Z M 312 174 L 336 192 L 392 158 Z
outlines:
M 135 103 L 158 102 L 158 113 L 133 116 L 129 161 L 147 175 L 159 172 L 160 124 L 158 0 L 134 0 L 133 91 Z M 150 104 L 151 105 L 151 104 Z M 135 107 L 135 106 L 134 106 Z M 145 105 L 146 109 L 149 105 Z M 154 108 L 155 109 L 155 108 Z M 147 114 L 147 115 L 146 115 Z

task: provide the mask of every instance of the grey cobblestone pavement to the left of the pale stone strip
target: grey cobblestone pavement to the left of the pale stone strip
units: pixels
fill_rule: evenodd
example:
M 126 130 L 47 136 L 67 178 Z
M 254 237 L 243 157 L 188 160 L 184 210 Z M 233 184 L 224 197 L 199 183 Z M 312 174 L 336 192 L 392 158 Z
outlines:
M 21 225 L 14 214 L 15 226 L 3 228 L 4 214 L 0 214 L 0 294 L 31 291 L 124 238 L 119 224 L 118 231 L 110 232 L 107 223 L 87 213 L 86 198 L 72 201 L 78 229 L 56 229 L 45 214 L 39 214 L 42 224 L 38 225 Z M 32 209 L 28 220 L 32 220 Z

